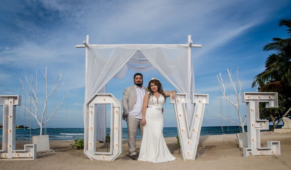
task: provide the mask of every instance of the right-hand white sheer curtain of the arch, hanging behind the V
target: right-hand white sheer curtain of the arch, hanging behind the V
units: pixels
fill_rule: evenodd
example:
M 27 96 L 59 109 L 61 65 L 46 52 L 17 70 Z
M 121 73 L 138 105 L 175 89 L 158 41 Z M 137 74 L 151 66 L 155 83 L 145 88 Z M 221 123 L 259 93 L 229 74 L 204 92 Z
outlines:
M 159 71 L 159 73 L 162 74 L 180 93 L 187 93 L 188 99 L 186 109 L 188 123 L 190 123 L 193 117 L 191 94 L 194 92 L 195 87 L 193 64 L 190 60 L 191 64 L 189 65 L 188 49 L 168 49 L 158 47 L 153 49 L 141 49 L 141 52 Z M 190 75 L 188 73 L 189 70 Z

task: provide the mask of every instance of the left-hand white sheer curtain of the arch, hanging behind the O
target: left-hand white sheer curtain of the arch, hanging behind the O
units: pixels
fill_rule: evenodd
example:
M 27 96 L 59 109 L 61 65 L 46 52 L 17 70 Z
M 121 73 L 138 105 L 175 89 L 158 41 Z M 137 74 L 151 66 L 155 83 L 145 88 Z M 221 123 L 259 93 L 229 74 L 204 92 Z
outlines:
M 86 58 L 85 102 L 99 91 L 106 93 L 106 90 L 104 90 L 106 83 L 122 69 L 136 51 L 137 49 L 123 49 L 119 47 L 105 49 L 89 48 L 88 57 Z M 85 106 L 83 110 L 84 113 L 87 112 Z M 94 111 L 98 117 L 95 130 L 96 140 L 105 141 L 106 107 L 100 104 L 95 105 Z

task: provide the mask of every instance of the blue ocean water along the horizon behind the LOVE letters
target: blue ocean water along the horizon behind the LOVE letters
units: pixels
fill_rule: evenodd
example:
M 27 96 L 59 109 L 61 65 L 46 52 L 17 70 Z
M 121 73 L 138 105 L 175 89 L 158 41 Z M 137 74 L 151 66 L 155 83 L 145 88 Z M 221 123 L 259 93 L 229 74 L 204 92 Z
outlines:
M 277 128 L 281 128 L 283 125 L 278 125 Z M 272 126 L 269 126 L 271 129 Z M 84 128 L 47 128 L 47 134 L 50 140 L 75 140 L 84 139 Z M 247 131 L 247 126 L 245 126 Z M 261 130 L 266 131 L 266 130 Z M 39 135 L 40 129 L 16 129 L 16 140 L 30 140 L 31 136 Z M 43 129 L 44 132 L 44 129 Z M 106 129 L 107 133 L 110 133 L 110 128 Z M 219 134 L 235 134 L 240 133 L 241 128 L 239 126 L 209 126 L 201 127 L 200 135 L 219 135 Z M 165 127 L 163 129 L 164 137 L 176 137 L 178 131 L 176 127 Z M 122 138 L 127 139 L 127 128 L 122 128 Z M 141 139 L 141 134 L 138 130 L 137 138 Z M 0 140 L 2 140 L 2 129 L 0 129 Z

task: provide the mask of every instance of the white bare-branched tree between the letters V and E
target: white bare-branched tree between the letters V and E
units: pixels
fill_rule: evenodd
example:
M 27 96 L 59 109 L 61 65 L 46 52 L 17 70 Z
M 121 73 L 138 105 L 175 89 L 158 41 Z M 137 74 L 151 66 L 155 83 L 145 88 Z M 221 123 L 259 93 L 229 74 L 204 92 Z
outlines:
M 229 99 L 229 98 L 227 97 L 227 95 L 226 95 L 225 85 L 224 85 L 223 79 L 222 79 L 222 77 L 221 77 L 221 73 L 219 73 L 219 77 L 218 77 L 218 75 L 216 74 L 216 77 L 217 77 L 219 83 L 220 83 L 220 84 L 222 85 L 222 87 L 223 87 L 223 89 L 221 88 L 220 90 L 222 91 L 224 98 L 225 98 L 225 99 L 226 99 L 230 104 L 232 104 L 232 105 L 236 108 L 236 110 L 237 110 L 237 114 L 238 114 L 238 118 L 239 118 L 240 123 L 237 123 L 237 122 L 235 122 L 235 121 L 229 120 L 229 119 L 223 117 L 222 115 L 218 115 L 218 114 L 216 114 L 216 115 L 218 115 L 218 116 L 224 118 L 224 119 L 227 120 L 227 121 L 230 121 L 230 122 L 232 122 L 232 123 L 235 123 L 235 124 L 241 126 L 242 132 L 245 132 L 244 125 L 245 125 L 246 117 L 245 117 L 245 120 L 242 121 L 242 119 L 241 119 L 241 114 L 240 114 L 240 108 L 239 108 L 240 95 L 241 95 L 241 81 L 238 79 L 238 67 L 237 67 L 237 80 L 236 80 L 236 85 L 237 85 L 237 86 L 235 86 L 234 83 L 233 83 L 233 81 L 232 81 L 231 70 L 229 71 L 229 70 L 227 69 L 227 72 L 228 72 L 229 79 L 230 79 L 230 81 L 231 81 L 231 83 L 232 83 L 232 87 L 233 87 L 233 89 L 234 89 L 234 91 L 235 91 L 235 93 L 236 93 L 236 96 L 237 96 L 237 103 L 236 103 L 236 104 L 234 104 L 232 101 L 230 101 L 230 99 Z

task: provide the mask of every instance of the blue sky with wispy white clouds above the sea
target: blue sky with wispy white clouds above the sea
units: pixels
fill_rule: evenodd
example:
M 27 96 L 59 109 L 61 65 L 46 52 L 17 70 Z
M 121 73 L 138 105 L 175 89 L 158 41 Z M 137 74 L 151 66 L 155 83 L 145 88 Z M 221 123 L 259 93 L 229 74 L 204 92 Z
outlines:
M 202 126 L 220 126 L 219 85 L 216 74 L 222 72 L 227 83 L 227 70 L 233 78 L 239 67 L 243 91 L 251 88 L 253 77 L 264 70 L 270 52 L 263 46 L 271 38 L 285 38 L 285 27 L 278 27 L 280 19 L 291 18 L 291 2 L 279 1 L 14 1 L 4 0 L 0 6 L 0 95 L 9 90 L 19 94 L 24 74 L 35 75 L 41 93 L 44 78 L 41 70 L 48 68 L 49 83 L 63 73 L 64 86 L 57 92 L 58 102 L 69 89 L 68 108 L 59 109 L 55 127 L 83 127 L 82 107 L 85 93 L 86 35 L 90 44 L 186 44 L 192 35 L 195 92 L 209 94 Z M 123 79 L 111 79 L 107 92 L 121 101 L 123 90 L 133 84 L 135 71 L 128 71 Z M 156 70 L 142 72 L 147 84 L 151 77 L 161 79 L 165 90 L 172 90 Z M 230 87 L 230 96 L 235 101 Z M 53 98 L 53 97 L 52 97 Z M 24 101 L 24 100 L 23 100 Z M 44 101 L 40 100 L 40 103 Z M 50 113 L 53 100 L 50 100 Z M 29 101 L 28 101 L 29 103 Z M 223 100 L 223 104 L 226 101 Z M 245 103 L 241 103 L 245 115 Z M 223 108 L 223 115 L 229 111 Z M 176 126 L 173 107 L 165 106 L 165 127 Z M 234 107 L 231 119 L 237 121 Z M 26 116 L 26 123 L 28 122 Z M 38 127 L 32 119 L 32 126 Z M 17 124 L 23 124 L 23 111 Z M 228 125 L 223 121 L 223 125 Z M 229 124 L 234 125 L 234 124 Z M 246 124 L 245 124 L 246 125 Z M 53 126 L 53 121 L 48 127 Z M 123 121 L 123 126 L 126 123 Z

